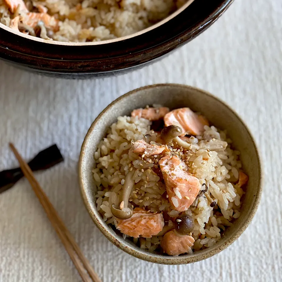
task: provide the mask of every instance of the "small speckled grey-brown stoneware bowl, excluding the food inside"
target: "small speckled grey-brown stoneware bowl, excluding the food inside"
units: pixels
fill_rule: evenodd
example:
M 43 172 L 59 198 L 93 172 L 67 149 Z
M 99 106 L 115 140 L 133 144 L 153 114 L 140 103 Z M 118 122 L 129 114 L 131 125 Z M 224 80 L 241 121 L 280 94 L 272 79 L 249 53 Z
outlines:
M 120 115 L 130 115 L 136 108 L 144 108 L 153 103 L 173 108 L 189 107 L 201 112 L 212 125 L 227 129 L 236 150 L 241 152 L 241 161 L 249 175 L 246 195 L 241 208 L 241 215 L 234 224 L 224 231 L 224 236 L 210 248 L 193 254 L 167 256 L 151 254 L 140 249 L 129 240 L 124 240 L 105 224 L 96 209 L 94 183 L 91 170 L 94 167 L 94 152 L 106 130 Z M 232 244 L 247 228 L 254 217 L 261 197 L 261 162 L 253 137 L 241 118 L 224 102 L 213 95 L 186 85 L 159 84 L 133 90 L 111 103 L 91 125 L 81 148 L 79 159 L 79 180 L 83 200 L 94 223 L 100 231 L 117 247 L 139 259 L 163 264 L 184 264 L 200 261 L 213 256 Z

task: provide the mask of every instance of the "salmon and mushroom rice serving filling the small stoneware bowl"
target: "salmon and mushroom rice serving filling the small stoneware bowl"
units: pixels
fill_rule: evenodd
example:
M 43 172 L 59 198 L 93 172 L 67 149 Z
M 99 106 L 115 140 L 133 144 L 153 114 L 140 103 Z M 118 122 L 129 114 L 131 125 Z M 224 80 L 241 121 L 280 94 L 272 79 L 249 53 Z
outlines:
M 170 256 L 213 246 L 240 216 L 240 152 L 226 131 L 189 108 L 120 116 L 95 152 L 103 220 L 141 249 Z

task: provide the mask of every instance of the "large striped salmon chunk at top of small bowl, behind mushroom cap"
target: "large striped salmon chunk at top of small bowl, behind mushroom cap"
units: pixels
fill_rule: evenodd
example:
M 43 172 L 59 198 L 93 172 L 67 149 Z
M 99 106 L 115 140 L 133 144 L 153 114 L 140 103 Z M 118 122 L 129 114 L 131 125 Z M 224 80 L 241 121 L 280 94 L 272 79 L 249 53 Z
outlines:
M 182 136 L 184 135 L 202 135 L 204 132 L 204 125 L 209 125 L 208 120 L 202 116 L 197 115 L 189 108 L 180 108 L 167 113 L 164 116 L 165 126 L 177 125 L 182 129 Z

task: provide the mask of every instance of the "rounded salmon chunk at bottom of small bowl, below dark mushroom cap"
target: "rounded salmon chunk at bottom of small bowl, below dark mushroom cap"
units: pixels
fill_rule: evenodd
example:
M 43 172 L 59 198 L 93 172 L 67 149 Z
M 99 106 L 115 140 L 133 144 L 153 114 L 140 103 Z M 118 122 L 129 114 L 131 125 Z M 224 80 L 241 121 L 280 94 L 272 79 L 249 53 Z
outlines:
M 161 247 L 170 256 L 188 253 L 194 245 L 194 238 L 189 235 L 178 236 L 174 230 L 164 234 Z

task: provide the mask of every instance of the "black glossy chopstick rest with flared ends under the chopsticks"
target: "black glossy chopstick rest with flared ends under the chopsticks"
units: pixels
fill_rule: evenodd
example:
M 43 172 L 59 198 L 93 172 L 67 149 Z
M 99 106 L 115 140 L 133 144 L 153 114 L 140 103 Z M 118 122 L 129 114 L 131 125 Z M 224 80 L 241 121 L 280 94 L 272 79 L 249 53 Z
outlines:
M 29 163 L 29 167 L 32 171 L 45 170 L 54 165 L 63 162 L 64 158 L 58 149 L 57 145 L 54 144 L 51 147 L 44 149 L 39 152 Z M 0 172 L 0 193 L 14 186 L 24 174 L 21 169 L 14 168 L 3 170 Z

